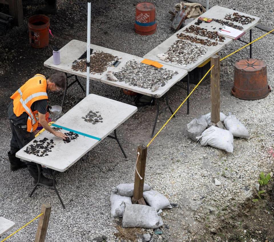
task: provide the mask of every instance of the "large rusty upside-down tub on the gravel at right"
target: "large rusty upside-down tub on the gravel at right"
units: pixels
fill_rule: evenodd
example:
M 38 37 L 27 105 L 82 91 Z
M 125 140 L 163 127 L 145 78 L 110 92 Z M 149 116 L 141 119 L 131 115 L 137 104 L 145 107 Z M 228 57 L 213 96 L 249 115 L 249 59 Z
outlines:
M 232 95 L 244 100 L 266 97 L 271 91 L 267 83 L 266 63 L 258 59 L 242 59 L 235 63 Z

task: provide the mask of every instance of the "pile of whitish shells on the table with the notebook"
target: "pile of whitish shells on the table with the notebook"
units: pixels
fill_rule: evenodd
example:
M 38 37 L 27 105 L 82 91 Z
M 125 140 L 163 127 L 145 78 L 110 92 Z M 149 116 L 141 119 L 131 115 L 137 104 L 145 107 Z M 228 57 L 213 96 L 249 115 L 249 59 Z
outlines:
M 179 39 L 168 48 L 166 53 L 158 54 L 157 57 L 166 62 L 171 61 L 174 65 L 178 64 L 186 67 L 187 64 L 193 63 L 204 56 L 206 51 L 207 48 L 204 46 L 197 46 L 183 39 Z

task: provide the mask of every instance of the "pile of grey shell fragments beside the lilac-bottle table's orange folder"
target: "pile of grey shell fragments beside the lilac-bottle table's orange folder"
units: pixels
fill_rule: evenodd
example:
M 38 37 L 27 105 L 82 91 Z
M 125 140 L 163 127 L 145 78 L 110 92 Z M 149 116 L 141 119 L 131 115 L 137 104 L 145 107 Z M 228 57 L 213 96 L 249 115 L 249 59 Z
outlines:
M 147 88 L 154 92 L 159 87 L 166 85 L 168 80 L 177 74 L 177 71 L 156 68 L 130 60 L 119 72 L 115 72 L 114 76 L 118 81 L 124 81 L 130 86 Z

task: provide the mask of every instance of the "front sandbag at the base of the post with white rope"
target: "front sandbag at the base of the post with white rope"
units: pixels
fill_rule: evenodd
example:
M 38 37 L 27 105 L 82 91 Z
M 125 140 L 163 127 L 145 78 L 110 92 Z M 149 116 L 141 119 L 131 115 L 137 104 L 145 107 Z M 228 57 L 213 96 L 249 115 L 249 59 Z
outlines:
M 163 226 L 162 218 L 157 215 L 156 209 L 140 204 L 126 204 L 122 228 L 147 228 L 156 229 Z

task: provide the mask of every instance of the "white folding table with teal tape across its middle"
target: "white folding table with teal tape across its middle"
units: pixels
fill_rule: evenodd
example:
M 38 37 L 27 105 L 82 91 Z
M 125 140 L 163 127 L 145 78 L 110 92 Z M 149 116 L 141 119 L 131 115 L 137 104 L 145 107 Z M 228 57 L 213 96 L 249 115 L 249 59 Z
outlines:
M 102 123 L 98 122 L 92 124 L 84 121 L 82 119 L 89 111 L 99 111 L 101 115 Z M 118 145 L 120 146 L 124 156 L 124 150 L 120 144 L 116 129 L 129 119 L 134 113 L 137 112 L 137 107 L 121 103 L 112 99 L 101 97 L 98 95 L 90 94 L 65 113 L 60 119 L 58 119 L 52 126 L 62 128 L 62 132 L 72 131 L 77 133 L 79 136 L 77 139 L 71 140 L 69 143 L 65 143 L 63 139 L 55 137 L 53 134 L 48 131 L 44 131 L 34 140 L 43 140 L 47 138 L 48 140 L 53 139 L 55 146 L 51 149 L 51 152 L 48 152 L 47 156 L 36 156 L 34 154 L 27 154 L 24 150 L 27 146 L 33 145 L 34 140 L 28 143 L 25 147 L 20 149 L 16 156 L 23 160 L 31 161 L 37 163 L 39 169 L 39 179 L 35 185 L 33 191 L 30 194 L 33 194 L 38 185 L 46 187 L 48 189 L 55 190 L 63 207 L 65 205 L 59 195 L 59 192 L 56 189 L 55 184 L 55 175 L 57 171 L 64 172 L 70 166 L 72 166 L 76 161 L 78 161 L 83 155 L 90 151 L 94 146 L 96 146 L 100 141 L 106 137 L 116 139 Z M 114 131 L 114 137 L 110 134 Z M 51 168 L 54 170 L 53 173 L 53 187 L 45 186 L 40 182 L 40 166 Z

